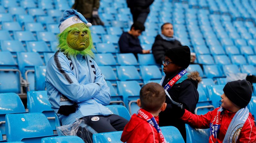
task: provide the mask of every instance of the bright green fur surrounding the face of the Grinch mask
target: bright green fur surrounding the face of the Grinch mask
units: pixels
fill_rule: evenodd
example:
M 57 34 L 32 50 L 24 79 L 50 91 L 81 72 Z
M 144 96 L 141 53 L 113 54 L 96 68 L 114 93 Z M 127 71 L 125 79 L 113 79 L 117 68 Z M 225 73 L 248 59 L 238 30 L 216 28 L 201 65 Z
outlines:
M 88 28 L 88 34 L 89 34 L 89 37 L 90 37 L 90 44 L 83 51 L 74 50 L 74 49 L 72 49 L 72 48 L 70 48 L 68 46 L 68 44 L 67 44 L 67 36 L 68 36 L 70 31 L 71 31 L 71 27 L 68 27 L 62 33 L 60 33 L 58 35 L 59 45 L 57 47 L 59 47 L 60 50 L 63 51 L 65 55 L 76 56 L 78 54 L 81 54 L 83 56 L 90 56 L 90 57 L 93 58 L 94 54 L 93 54 L 92 50 L 96 51 L 96 49 L 93 46 L 90 29 Z

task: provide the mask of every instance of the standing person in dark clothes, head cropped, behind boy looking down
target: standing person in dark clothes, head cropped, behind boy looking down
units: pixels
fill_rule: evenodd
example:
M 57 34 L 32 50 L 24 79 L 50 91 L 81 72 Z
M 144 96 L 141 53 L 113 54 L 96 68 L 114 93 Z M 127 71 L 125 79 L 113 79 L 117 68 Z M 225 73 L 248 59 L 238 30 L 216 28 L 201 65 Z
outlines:
M 149 6 L 153 2 L 154 0 L 127 0 L 127 5 L 132 13 L 133 22 L 139 21 L 144 24 L 150 12 Z

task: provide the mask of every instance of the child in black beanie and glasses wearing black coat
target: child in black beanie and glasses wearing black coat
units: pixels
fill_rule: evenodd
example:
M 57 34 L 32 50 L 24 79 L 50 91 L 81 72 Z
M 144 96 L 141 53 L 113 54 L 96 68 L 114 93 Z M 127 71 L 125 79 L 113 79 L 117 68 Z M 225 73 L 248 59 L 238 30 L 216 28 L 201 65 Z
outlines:
M 166 89 L 170 97 L 183 108 L 194 113 L 199 99 L 197 85 L 201 81 L 198 72 L 185 71 L 190 64 L 190 49 L 188 46 L 180 46 L 166 51 L 164 73 L 166 74 L 160 84 Z M 177 77 L 175 77 L 177 75 Z M 171 82 L 170 82 L 171 81 Z M 169 83 L 170 82 L 170 83 Z M 159 126 L 175 126 L 186 142 L 185 123 L 177 116 L 179 113 L 172 108 L 171 100 L 166 96 L 166 110 L 159 114 Z

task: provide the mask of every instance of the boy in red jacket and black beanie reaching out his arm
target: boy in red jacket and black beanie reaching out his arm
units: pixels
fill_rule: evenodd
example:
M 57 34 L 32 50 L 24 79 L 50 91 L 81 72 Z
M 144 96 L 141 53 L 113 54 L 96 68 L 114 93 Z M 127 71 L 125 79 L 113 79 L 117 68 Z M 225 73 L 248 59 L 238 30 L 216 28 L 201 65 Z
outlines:
M 194 128 L 210 128 L 209 143 L 255 143 L 254 118 L 246 107 L 251 100 L 251 84 L 246 80 L 228 82 L 221 95 L 221 107 L 205 115 L 180 110 L 181 119 Z

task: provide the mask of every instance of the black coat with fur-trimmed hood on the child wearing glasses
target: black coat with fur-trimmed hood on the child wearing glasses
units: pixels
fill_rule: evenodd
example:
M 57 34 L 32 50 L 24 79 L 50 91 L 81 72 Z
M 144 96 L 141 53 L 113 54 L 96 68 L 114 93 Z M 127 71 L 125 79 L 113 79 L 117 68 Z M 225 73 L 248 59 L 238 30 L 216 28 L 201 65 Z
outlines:
M 175 75 L 170 76 L 168 80 L 165 79 L 162 86 L 164 87 Z M 184 80 L 182 83 L 173 85 L 168 93 L 175 102 L 182 103 L 183 108 L 194 114 L 194 110 L 199 99 L 199 94 L 197 91 L 197 85 L 199 82 L 201 82 L 199 73 L 191 72 L 191 75 L 189 75 L 186 80 Z M 166 103 L 166 110 L 160 112 L 159 114 L 159 126 L 175 126 L 177 129 L 179 129 L 183 139 L 186 142 L 185 123 L 180 118 L 175 117 L 172 111 L 171 100 L 167 96 Z

